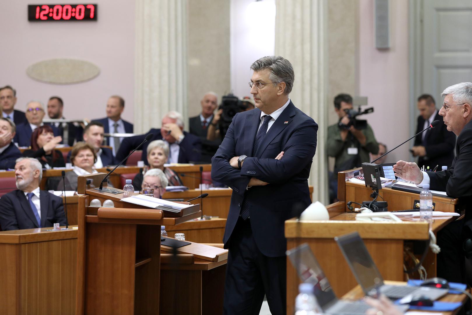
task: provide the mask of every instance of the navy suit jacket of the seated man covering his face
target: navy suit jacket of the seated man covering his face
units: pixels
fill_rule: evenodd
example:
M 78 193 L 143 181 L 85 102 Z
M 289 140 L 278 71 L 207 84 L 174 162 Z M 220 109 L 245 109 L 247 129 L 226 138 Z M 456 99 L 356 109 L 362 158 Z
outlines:
M 141 155 L 141 160 L 144 161 L 144 164 L 148 165 L 147 161 L 147 146 L 151 141 L 162 140 L 162 135 L 160 134 L 160 129 L 151 129 L 143 135 L 132 136 L 124 138 L 119 146 L 119 150 L 116 156 L 117 163 L 121 162 L 126 155 L 133 151 L 141 142 L 144 141 L 144 138 L 152 134 L 151 140 L 145 142 L 138 150 L 143 150 Z M 179 163 L 188 163 L 200 161 L 200 155 L 202 152 L 202 141 L 198 136 L 194 136 L 184 131 L 184 140 L 179 144 L 180 150 L 178 153 L 178 162 Z M 126 161 L 125 161 L 126 162 Z

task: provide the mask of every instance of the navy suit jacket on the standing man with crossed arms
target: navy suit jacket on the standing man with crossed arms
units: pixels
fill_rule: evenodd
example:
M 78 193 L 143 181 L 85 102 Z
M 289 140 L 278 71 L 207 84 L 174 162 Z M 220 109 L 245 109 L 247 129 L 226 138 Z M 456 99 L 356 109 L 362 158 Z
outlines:
M 273 123 L 253 156 L 254 139 L 261 111 L 237 113 L 211 163 L 211 179 L 233 189 L 223 238 L 225 248 L 241 211 L 244 197 L 249 203 L 253 237 L 262 254 L 284 256 L 287 240 L 284 222 L 311 204 L 308 177 L 316 151 L 318 125 L 292 102 Z M 284 151 L 281 160 L 275 157 Z M 247 155 L 241 170 L 229 160 Z M 251 177 L 266 186 L 246 187 Z

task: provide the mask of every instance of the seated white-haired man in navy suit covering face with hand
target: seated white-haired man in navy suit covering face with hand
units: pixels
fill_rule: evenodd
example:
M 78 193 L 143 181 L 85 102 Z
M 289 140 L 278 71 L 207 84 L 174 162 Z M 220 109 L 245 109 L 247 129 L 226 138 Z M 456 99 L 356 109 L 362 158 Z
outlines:
M 126 155 L 140 145 L 148 134 L 153 135 L 151 140 L 145 142 L 139 148 L 139 150 L 143 150 L 141 160 L 144 161 L 144 164 L 149 165 L 147 161 L 147 146 L 153 140 L 164 140 L 169 145 L 168 163 L 200 161 L 202 151 L 200 138 L 184 131 L 184 121 L 180 113 L 169 111 L 162 119 L 160 129 L 152 128 L 143 135 L 123 139 L 116 156 L 117 162 L 119 163 L 126 158 Z

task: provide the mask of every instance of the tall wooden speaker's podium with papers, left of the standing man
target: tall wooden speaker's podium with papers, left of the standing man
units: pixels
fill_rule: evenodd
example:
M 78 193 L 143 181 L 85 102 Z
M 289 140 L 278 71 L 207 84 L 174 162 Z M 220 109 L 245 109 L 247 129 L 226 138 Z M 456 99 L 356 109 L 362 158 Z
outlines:
M 78 177 L 77 314 L 159 314 L 160 225 L 198 218 L 200 205 L 168 216 L 122 202 L 123 194 L 87 189 L 87 179 L 99 187 L 105 176 Z M 115 207 L 90 207 L 92 199 Z

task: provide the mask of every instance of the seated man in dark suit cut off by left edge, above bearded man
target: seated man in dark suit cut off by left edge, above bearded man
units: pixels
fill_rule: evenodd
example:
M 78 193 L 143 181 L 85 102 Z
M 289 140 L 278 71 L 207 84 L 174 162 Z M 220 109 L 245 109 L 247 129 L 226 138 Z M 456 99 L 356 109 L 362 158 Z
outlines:
M 11 141 L 15 136 L 15 123 L 8 118 L 0 118 L 0 170 L 15 168 L 15 161 L 21 152 Z

